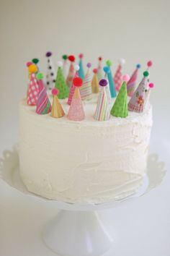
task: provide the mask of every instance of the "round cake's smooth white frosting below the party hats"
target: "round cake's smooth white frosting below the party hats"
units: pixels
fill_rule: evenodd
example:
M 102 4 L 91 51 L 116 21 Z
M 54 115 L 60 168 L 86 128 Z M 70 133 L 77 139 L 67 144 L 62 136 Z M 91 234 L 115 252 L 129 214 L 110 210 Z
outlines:
M 35 113 L 20 103 L 20 173 L 31 192 L 65 202 L 106 202 L 135 192 L 146 171 L 152 108 L 96 121 L 96 98 L 86 119 Z M 61 101 L 65 113 L 69 106 Z M 112 106 L 112 104 L 111 104 Z

